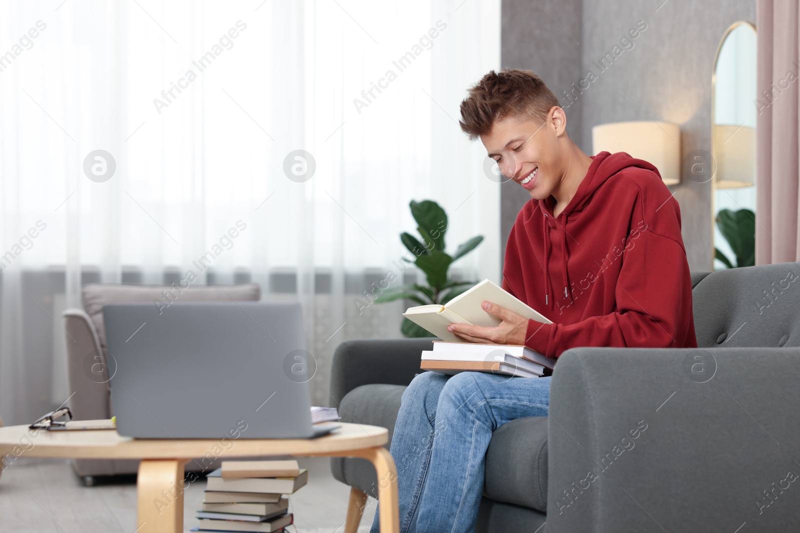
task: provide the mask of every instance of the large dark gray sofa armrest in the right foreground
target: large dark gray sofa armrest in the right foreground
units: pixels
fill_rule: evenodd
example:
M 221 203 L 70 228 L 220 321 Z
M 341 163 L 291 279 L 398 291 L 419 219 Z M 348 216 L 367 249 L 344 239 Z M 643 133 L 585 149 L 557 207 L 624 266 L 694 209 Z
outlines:
M 547 531 L 798 531 L 798 384 L 800 348 L 564 352 Z

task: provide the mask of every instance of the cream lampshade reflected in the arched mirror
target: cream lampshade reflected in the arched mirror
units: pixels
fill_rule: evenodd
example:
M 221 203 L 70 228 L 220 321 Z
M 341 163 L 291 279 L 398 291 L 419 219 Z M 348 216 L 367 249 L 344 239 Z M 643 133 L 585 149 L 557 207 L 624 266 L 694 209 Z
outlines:
M 755 128 L 714 125 L 714 175 L 718 189 L 750 187 L 755 177 Z

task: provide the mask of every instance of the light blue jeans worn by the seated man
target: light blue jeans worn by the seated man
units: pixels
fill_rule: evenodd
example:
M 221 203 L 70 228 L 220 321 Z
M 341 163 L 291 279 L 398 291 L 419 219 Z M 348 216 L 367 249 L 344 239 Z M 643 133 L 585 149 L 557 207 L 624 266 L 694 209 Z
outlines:
M 398 468 L 400 533 L 472 533 L 492 432 L 547 416 L 550 377 L 422 372 L 403 392 L 390 452 Z M 521 443 L 524 445 L 524 443 Z M 370 533 L 378 533 L 378 514 Z

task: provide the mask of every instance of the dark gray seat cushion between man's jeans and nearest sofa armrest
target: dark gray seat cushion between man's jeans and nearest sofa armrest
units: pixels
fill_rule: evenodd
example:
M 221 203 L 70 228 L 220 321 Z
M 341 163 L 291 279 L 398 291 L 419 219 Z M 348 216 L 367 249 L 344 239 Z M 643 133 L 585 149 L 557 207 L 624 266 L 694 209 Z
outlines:
M 486 450 L 483 495 L 547 511 L 547 417 L 511 420 L 494 431 Z

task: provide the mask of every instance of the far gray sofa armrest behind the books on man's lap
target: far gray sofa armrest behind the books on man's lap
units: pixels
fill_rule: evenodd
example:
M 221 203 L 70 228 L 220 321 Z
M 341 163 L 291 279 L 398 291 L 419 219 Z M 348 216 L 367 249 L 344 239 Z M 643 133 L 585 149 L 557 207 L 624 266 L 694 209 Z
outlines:
M 331 407 L 361 385 L 407 385 L 419 368 L 422 350 L 433 348 L 434 337 L 423 339 L 346 340 L 336 347 L 330 368 Z

